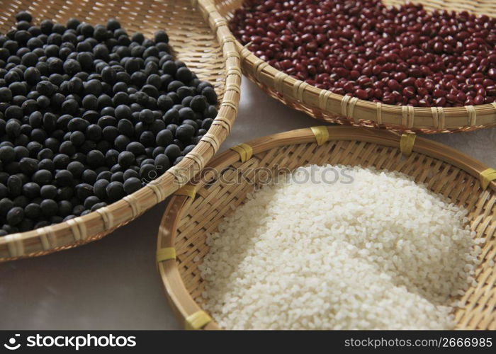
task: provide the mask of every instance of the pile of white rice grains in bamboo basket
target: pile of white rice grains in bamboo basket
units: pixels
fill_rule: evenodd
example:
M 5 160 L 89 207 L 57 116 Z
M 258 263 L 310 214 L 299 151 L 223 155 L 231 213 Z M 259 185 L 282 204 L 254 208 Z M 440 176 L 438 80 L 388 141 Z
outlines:
M 483 241 L 466 224 L 404 174 L 300 168 L 208 236 L 204 307 L 225 329 L 451 329 Z

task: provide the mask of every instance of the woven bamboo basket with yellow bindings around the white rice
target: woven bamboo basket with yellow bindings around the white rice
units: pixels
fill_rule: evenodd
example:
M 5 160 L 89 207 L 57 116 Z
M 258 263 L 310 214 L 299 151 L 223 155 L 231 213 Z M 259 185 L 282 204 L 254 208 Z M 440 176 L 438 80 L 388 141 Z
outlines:
M 201 309 L 205 282 L 198 265 L 208 253 L 207 234 L 244 203 L 247 193 L 266 183 L 260 171 L 308 164 L 400 171 L 465 207 L 471 229 L 486 241 L 475 275 L 478 285 L 463 296 L 466 306 L 456 311 L 456 328 L 496 329 L 496 269 L 491 265 L 496 260 L 496 171 L 429 139 L 343 126 L 293 130 L 240 144 L 216 156 L 198 181 L 171 198 L 159 228 L 157 265 L 167 299 L 186 328 L 219 329 Z

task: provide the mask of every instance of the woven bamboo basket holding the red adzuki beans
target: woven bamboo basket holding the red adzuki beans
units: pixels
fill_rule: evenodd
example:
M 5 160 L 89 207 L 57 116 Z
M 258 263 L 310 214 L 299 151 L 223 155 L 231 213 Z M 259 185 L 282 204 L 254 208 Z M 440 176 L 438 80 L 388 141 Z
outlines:
M 242 6 L 242 0 L 213 1 L 227 21 L 232 18 L 234 11 Z M 404 4 L 405 0 L 383 0 L 383 2 L 398 6 Z M 413 2 L 424 4 L 427 10 L 468 11 L 496 17 L 496 7 L 491 1 L 415 0 Z M 363 101 L 317 89 L 271 67 L 239 42 L 237 47 L 241 52 L 244 75 L 273 98 L 318 120 L 424 133 L 464 132 L 496 125 L 496 103 L 458 108 L 421 108 Z

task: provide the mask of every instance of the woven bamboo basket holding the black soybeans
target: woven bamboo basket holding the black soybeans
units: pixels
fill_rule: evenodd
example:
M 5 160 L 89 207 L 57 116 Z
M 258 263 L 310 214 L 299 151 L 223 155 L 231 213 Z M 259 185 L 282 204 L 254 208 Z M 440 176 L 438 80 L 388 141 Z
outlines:
M 239 55 L 225 20 L 210 0 L 198 0 L 194 4 L 189 0 L 109 0 L 103 3 L 0 0 L 0 5 L 1 33 L 11 28 L 15 13 L 22 10 L 30 11 L 35 23 L 45 18 L 64 23 L 74 17 L 97 24 L 117 18 L 128 33 L 140 31 L 151 37 L 158 29 L 167 30 L 174 56 L 185 62 L 199 79 L 214 84 L 219 95 L 218 116 L 212 127 L 181 163 L 132 195 L 84 217 L 0 237 L 0 261 L 40 256 L 101 239 L 188 182 L 229 135 L 239 102 Z

